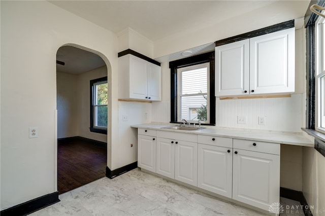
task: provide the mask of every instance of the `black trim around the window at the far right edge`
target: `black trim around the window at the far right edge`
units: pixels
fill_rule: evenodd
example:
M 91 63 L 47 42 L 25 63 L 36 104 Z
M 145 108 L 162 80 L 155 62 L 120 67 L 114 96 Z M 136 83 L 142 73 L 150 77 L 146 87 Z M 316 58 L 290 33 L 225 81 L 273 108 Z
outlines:
M 325 134 L 315 130 L 315 61 L 316 61 L 316 41 L 315 41 L 315 24 L 318 15 L 312 13 L 309 8 L 312 5 L 325 7 L 325 1 L 311 1 L 305 14 L 306 28 L 306 128 L 303 131 L 315 138 L 315 149 L 325 157 Z

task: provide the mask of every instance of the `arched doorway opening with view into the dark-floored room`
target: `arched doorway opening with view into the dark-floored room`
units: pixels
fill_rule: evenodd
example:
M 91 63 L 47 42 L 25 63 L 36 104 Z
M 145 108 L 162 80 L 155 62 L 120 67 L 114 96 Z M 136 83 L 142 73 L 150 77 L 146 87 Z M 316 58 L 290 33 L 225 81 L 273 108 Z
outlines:
M 98 53 L 78 45 L 64 45 L 57 50 L 57 190 L 59 194 L 73 190 L 105 176 L 107 166 L 107 128 L 110 116 L 108 74 L 110 65 Z M 108 62 L 108 63 L 106 63 Z M 91 92 L 91 81 L 106 77 L 101 94 Z M 105 82 L 101 82 L 102 86 Z M 103 94 L 104 91 L 104 94 Z M 105 92 L 106 91 L 106 92 Z M 94 99 L 106 94 L 106 125 L 94 127 L 105 132 L 90 131 L 94 119 Z M 100 104 L 103 111 L 103 104 Z M 105 107 L 104 107 L 105 110 Z M 96 113 L 96 112 L 95 112 Z M 102 112 L 103 113 L 103 112 Z M 102 114 L 100 117 L 104 118 Z M 97 116 L 96 116 L 97 117 Z M 104 121 L 105 122 L 105 121 Z

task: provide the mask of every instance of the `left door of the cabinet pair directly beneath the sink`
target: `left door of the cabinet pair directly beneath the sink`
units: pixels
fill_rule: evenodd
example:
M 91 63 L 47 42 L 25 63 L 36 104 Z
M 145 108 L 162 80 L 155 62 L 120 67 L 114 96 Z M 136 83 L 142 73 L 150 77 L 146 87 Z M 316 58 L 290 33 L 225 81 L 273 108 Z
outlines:
M 174 178 L 175 141 L 173 139 L 157 138 L 156 172 Z

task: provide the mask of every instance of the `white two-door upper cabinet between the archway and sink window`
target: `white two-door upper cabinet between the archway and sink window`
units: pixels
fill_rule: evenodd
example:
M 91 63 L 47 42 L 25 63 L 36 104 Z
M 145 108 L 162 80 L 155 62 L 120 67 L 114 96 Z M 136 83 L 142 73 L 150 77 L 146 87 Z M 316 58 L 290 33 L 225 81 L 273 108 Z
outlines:
M 118 98 L 161 100 L 161 67 L 137 56 L 118 58 Z

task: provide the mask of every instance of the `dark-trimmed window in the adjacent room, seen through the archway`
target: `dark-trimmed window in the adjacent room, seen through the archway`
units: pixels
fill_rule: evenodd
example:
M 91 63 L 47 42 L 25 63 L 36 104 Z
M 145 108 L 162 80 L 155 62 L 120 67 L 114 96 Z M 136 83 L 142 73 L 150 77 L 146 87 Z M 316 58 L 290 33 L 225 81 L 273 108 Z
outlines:
M 107 134 L 107 77 L 90 81 L 90 131 Z

